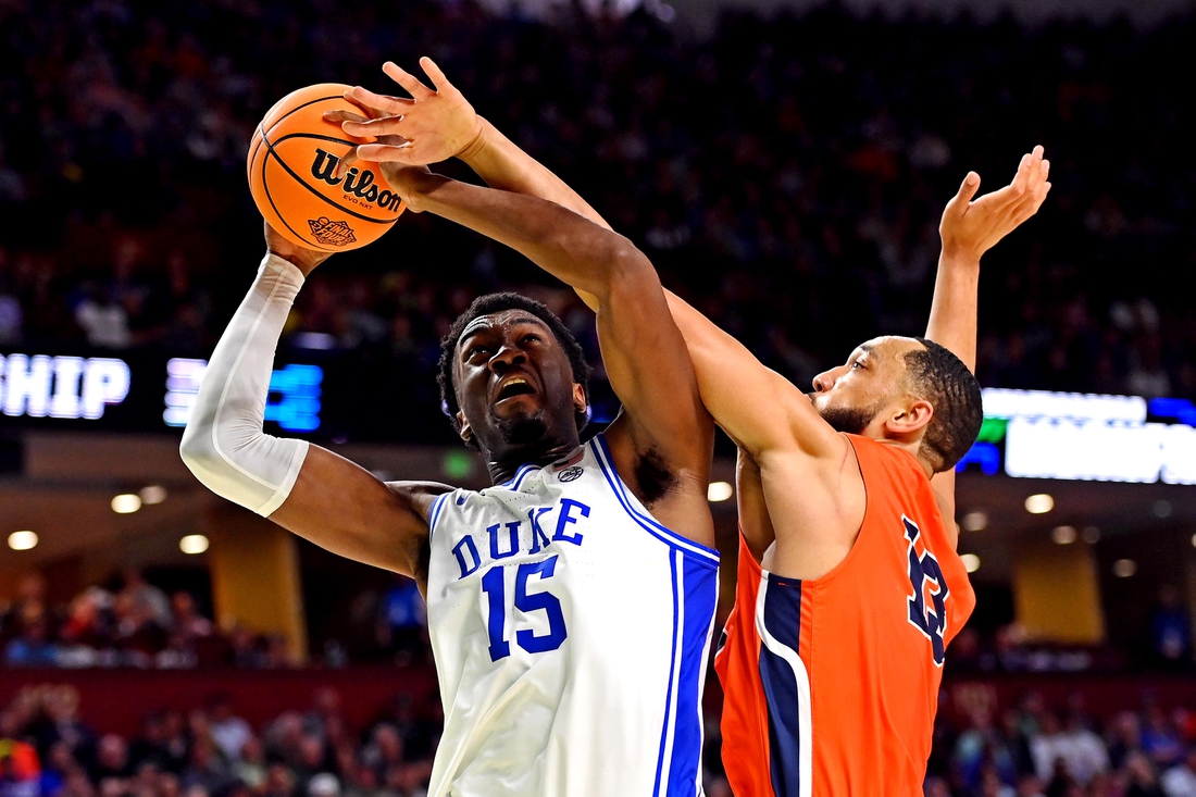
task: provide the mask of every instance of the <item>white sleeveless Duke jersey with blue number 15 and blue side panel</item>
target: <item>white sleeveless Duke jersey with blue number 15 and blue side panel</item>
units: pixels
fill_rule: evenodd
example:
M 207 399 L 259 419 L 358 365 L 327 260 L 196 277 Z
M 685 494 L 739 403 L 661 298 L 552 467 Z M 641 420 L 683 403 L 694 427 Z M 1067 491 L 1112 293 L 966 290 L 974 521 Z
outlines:
M 432 797 L 702 793 L 719 554 L 652 518 L 602 436 L 428 527 Z

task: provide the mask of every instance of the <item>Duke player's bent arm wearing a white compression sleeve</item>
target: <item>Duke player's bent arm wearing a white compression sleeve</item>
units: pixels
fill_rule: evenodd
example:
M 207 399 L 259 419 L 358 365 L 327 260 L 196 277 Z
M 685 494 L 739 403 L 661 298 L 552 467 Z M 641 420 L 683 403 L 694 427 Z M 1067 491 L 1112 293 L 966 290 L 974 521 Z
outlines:
M 307 274 L 328 255 L 267 227 L 269 253 L 208 363 L 179 446 L 209 489 L 334 553 L 421 580 L 427 511 L 443 485 L 388 486 L 305 440 L 262 431 L 274 351 Z

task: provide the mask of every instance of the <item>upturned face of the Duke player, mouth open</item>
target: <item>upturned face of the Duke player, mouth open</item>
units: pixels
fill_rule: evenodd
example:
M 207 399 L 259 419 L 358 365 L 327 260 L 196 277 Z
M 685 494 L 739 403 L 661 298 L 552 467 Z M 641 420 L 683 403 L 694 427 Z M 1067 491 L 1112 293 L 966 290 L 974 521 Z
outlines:
M 457 342 L 462 437 L 501 458 L 542 443 L 575 442 L 585 394 L 548 326 L 523 310 L 472 321 Z

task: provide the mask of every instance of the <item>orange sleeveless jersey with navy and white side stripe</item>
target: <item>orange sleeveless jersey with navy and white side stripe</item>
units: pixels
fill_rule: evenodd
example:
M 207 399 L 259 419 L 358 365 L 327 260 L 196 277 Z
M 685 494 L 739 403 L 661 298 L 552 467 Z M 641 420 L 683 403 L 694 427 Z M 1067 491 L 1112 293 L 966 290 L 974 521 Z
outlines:
M 867 505 L 838 566 L 782 578 L 739 542 L 714 664 L 737 797 L 922 793 L 944 651 L 976 595 L 917 460 L 848 439 Z

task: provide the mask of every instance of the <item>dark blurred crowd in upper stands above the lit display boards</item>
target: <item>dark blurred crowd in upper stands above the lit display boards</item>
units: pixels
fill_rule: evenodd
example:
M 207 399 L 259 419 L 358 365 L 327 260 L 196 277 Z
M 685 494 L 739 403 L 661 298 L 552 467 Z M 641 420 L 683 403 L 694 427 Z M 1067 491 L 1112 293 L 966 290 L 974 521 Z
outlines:
M 244 156 L 263 111 L 317 81 L 392 90 L 384 60 L 429 54 L 799 383 L 868 335 L 920 331 L 944 202 L 1042 142 L 1049 203 L 987 264 L 982 381 L 1196 396 L 1196 314 L 1172 288 L 1196 253 L 1196 104 L 1158 79 L 1184 72 L 1192 28 L 831 7 L 695 37 L 643 10 L 541 22 L 470 0 L 2 0 L 0 347 L 206 354 L 262 249 Z M 539 282 L 590 326 L 518 257 L 422 215 L 321 270 L 287 343 L 404 384 L 499 285 Z

